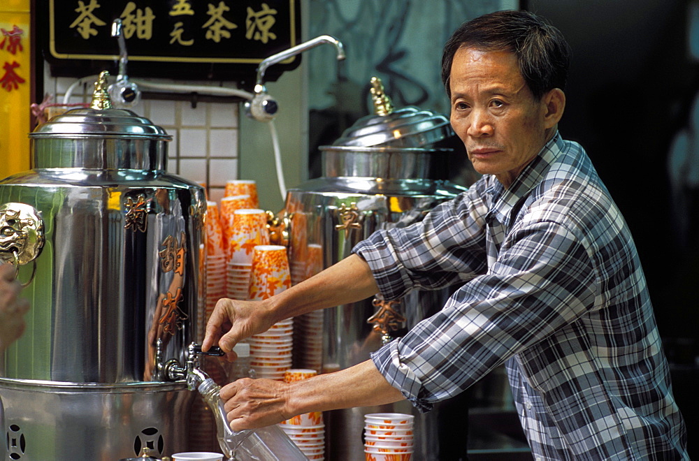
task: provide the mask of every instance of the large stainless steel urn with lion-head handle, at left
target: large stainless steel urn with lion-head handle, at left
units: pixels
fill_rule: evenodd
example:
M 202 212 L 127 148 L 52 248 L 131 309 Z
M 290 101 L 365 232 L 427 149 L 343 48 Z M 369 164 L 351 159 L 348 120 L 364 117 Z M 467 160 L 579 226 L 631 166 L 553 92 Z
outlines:
M 0 182 L 0 258 L 31 302 L 0 360 L 8 459 L 118 460 L 185 449 L 185 363 L 203 312 L 200 186 L 166 173 L 159 126 L 91 108 L 30 134 L 34 169 Z

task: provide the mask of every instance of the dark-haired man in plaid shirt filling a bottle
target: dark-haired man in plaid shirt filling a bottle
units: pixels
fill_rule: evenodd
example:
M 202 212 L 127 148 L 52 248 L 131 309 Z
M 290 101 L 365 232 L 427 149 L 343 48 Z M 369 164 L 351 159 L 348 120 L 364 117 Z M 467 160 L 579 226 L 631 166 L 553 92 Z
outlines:
M 276 321 L 377 292 L 459 289 L 365 363 L 293 384 L 225 386 L 233 429 L 404 398 L 426 411 L 505 363 L 535 458 L 687 458 L 633 239 L 582 147 L 557 130 L 569 55 L 560 32 L 526 12 L 454 33 L 442 80 L 482 179 L 275 298 L 220 300 L 203 347 L 231 351 Z

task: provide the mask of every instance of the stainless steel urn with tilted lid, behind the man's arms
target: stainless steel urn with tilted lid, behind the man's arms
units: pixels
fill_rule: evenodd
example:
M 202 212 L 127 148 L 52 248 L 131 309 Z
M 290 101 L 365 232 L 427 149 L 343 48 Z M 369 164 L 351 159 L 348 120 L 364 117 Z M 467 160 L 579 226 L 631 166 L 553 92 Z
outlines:
M 433 173 L 450 153 L 434 147 L 454 134 L 445 117 L 412 107 L 393 110 L 378 80 L 373 100 L 374 115 L 359 119 L 335 145 L 321 147 L 324 176 L 287 193 L 294 283 L 349 256 L 354 244 L 374 231 L 420 221 L 465 190 Z M 332 372 L 361 363 L 440 309 L 448 294 L 414 291 L 398 301 L 374 298 L 299 316 L 294 365 Z M 414 458 L 438 459 L 439 407 L 422 415 L 408 402 L 326 412 L 327 459 L 364 459 L 363 416 L 377 412 L 415 414 Z

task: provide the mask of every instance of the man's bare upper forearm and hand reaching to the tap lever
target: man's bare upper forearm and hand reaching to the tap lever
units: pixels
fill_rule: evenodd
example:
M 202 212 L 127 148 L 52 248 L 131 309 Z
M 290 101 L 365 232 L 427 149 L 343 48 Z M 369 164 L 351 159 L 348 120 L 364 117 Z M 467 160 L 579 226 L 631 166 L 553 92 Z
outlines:
M 240 340 L 264 332 L 280 320 L 363 300 L 378 291 L 369 265 L 353 254 L 273 298 L 219 300 L 206 325 L 202 349 L 208 351 L 218 343 L 230 353 Z

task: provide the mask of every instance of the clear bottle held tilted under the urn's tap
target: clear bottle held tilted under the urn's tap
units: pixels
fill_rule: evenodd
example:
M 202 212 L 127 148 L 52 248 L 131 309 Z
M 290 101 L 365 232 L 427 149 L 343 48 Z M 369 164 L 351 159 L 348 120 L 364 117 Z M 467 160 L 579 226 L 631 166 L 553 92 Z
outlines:
M 214 412 L 219 446 L 229 460 L 236 461 L 303 461 L 308 458 L 287 434 L 271 425 L 254 430 L 236 432 L 226 420 L 221 388 L 212 379 L 199 385 L 199 393 Z

